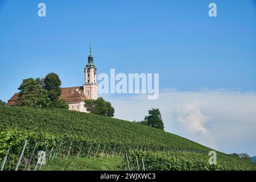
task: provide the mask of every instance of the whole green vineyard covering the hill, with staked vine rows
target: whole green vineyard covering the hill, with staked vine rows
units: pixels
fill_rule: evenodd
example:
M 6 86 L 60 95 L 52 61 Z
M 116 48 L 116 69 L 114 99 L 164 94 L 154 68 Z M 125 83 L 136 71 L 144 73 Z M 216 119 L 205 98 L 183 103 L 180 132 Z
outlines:
M 0 107 L 0 162 L 5 170 L 36 169 L 42 151 L 47 161 L 69 156 L 122 158 L 121 169 L 255 170 L 255 164 L 221 152 L 218 164 L 210 166 L 211 150 L 121 119 L 61 109 Z

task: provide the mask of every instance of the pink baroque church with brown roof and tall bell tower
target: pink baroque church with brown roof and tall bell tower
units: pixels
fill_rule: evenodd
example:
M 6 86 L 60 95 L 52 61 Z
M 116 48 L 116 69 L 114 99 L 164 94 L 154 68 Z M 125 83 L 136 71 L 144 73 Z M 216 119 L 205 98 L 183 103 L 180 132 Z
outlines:
M 80 112 L 88 112 L 84 107 L 86 99 L 96 100 L 98 98 L 97 85 L 97 68 L 93 63 L 92 47 L 90 46 L 90 54 L 88 56 L 88 63 L 84 68 L 85 80 L 83 86 L 74 86 L 68 88 L 61 88 L 59 98 L 64 99 L 69 106 L 69 110 Z M 7 106 L 18 105 L 19 93 L 15 93 L 7 103 Z

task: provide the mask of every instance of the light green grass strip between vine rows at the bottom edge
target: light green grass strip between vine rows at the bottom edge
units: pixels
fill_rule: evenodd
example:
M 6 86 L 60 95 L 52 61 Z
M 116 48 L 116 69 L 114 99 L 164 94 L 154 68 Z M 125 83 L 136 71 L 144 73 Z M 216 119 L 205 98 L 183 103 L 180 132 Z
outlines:
M 57 157 L 47 162 L 42 171 L 119 171 L 122 170 L 122 158 L 114 156 L 107 158 L 76 158 L 68 159 Z

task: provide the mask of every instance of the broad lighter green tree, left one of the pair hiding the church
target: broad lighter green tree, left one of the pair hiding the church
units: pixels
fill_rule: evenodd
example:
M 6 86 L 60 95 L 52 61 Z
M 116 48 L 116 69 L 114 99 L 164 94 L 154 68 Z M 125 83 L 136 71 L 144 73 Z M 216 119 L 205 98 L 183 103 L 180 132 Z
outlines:
M 20 90 L 18 102 L 22 106 L 48 107 L 51 104 L 47 91 L 34 78 L 23 80 L 18 89 Z

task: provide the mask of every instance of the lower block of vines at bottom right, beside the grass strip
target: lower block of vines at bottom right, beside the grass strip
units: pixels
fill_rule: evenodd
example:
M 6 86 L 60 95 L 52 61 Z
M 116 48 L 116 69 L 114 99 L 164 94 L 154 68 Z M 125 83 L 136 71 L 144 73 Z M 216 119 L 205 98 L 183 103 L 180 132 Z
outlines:
M 232 158 L 222 154 L 217 154 L 217 164 L 208 163 L 207 154 L 193 152 L 152 152 L 152 151 L 130 151 L 130 168 L 143 169 L 142 158 L 146 170 L 156 171 L 220 171 L 220 170 L 256 170 L 252 163 L 242 163 L 240 159 Z M 123 159 L 123 164 L 127 166 L 127 159 Z

